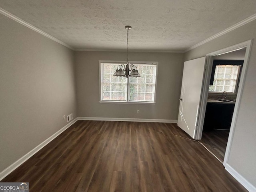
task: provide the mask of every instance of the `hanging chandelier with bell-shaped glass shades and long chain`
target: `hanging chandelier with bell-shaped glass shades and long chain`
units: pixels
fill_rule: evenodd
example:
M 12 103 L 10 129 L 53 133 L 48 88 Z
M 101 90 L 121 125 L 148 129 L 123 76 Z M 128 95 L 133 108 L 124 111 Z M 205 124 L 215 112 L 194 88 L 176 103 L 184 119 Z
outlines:
M 127 46 L 126 46 L 126 66 L 124 64 L 118 65 L 116 72 L 114 72 L 114 76 L 118 77 L 140 77 L 140 74 L 137 70 L 137 67 L 134 64 L 130 65 L 128 62 L 128 37 L 129 37 L 129 29 L 132 28 L 131 26 L 125 26 L 124 28 L 127 29 Z

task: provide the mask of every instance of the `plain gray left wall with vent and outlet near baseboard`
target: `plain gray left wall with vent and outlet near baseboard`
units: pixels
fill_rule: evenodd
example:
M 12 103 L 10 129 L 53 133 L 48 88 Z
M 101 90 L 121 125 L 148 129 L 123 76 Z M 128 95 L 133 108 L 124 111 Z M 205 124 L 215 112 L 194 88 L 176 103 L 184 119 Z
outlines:
M 74 52 L 0 14 L 0 172 L 76 118 Z

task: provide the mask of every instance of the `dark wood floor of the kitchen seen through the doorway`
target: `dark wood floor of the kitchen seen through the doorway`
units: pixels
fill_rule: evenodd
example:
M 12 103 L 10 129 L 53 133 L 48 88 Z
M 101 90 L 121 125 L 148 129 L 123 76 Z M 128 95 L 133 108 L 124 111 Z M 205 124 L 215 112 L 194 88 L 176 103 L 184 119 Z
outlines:
M 221 162 L 224 161 L 229 130 L 203 131 L 200 142 L 212 152 Z

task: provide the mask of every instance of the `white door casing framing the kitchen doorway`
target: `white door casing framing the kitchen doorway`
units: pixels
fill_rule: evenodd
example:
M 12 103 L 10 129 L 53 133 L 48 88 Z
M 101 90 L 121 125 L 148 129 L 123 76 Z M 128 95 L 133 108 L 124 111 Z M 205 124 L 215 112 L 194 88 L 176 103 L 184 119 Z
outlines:
M 239 111 L 240 98 L 241 98 L 242 90 L 243 90 L 243 86 L 244 86 L 244 79 L 245 79 L 245 75 L 246 75 L 246 69 L 247 69 L 251 44 L 252 44 L 252 40 L 248 40 L 246 42 L 242 42 L 240 44 L 236 44 L 234 46 L 230 46 L 228 48 L 224 48 L 222 50 L 218 50 L 218 51 L 215 51 L 215 52 L 212 52 L 212 53 L 209 53 L 209 54 L 206 55 L 206 58 L 207 58 L 206 70 L 205 70 L 205 75 L 204 75 L 204 84 L 202 86 L 202 97 L 201 97 L 201 103 L 200 103 L 200 109 L 199 109 L 200 113 L 198 115 L 198 131 L 196 133 L 196 139 L 197 140 L 201 140 L 202 136 L 203 136 L 204 119 L 205 119 L 205 115 L 206 115 L 208 93 L 209 93 L 209 86 L 210 86 L 210 80 L 211 80 L 211 74 L 212 74 L 214 59 L 218 60 L 218 59 L 220 59 L 221 56 L 224 56 L 224 54 L 230 53 L 230 55 L 231 55 L 232 52 L 242 50 L 242 49 L 245 50 L 244 62 L 242 64 L 242 68 L 241 68 L 241 72 L 240 72 L 240 80 L 238 82 L 239 86 L 237 87 L 237 92 L 236 92 L 236 95 L 235 95 L 236 98 L 233 99 L 233 101 L 235 100 L 235 102 L 234 102 L 234 110 L 233 110 L 233 114 L 232 114 L 231 122 L 230 122 L 230 129 L 228 131 L 223 130 L 223 131 L 228 132 L 226 134 L 227 135 L 226 137 L 228 137 L 228 140 L 225 144 L 226 145 L 226 150 L 225 150 L 225 147 L 224 147 L 224 152 L 222 152 L 222 155 L 224 154 L 224 159 L 222 158 L 223 160 L 220 160 L 223 163 L 224 166 L 226 166 L 226 163 L 227 163 L 228 157 L 229 157 L 229 153 L 230 153 L 230 147 L 231 147 L 231 142 L 232 142 L 232 139 L 233 139 L 234 129 L 235 129 L 235 125 L 236 125 L 236 118 L 237 118 L 237 114 L 238 114 L 238 111 Z M 209 96 L 210 96 L 210 94 L 209 94 Z M 221 94 L 220 99 L 225 99 L 225 97 L 228 98 L 228 96 L 226 96 L 226 93 L 224 92 L 223 95 Z M 216 136 L 216 137 L 219 138 L 218 136 Z M 199 141 L 199 142 L 201 142 L 201 141 Z M 216 156 L 216 155 L 214 155 L 214 156 Z

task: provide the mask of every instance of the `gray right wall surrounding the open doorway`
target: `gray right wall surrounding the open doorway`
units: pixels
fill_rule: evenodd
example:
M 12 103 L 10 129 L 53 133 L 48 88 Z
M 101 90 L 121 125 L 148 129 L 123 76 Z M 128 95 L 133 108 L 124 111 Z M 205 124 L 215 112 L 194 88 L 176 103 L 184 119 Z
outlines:
M 253 39 L 228 164 L 256 186 L 256 20 L 185 54 L 185 60 Z

